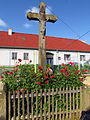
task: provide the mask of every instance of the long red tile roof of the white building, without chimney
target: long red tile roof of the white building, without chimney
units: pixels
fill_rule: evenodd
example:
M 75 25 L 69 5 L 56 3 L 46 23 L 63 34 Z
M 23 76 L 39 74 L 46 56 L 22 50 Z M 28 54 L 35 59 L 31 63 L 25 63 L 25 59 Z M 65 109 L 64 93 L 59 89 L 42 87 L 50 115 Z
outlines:
M 0 47 L 38 48 L 38 35 L 0 31 Z M 75 39 L 46 37 L 46 49 L 86 51 L 90 52 L 90 45 Z

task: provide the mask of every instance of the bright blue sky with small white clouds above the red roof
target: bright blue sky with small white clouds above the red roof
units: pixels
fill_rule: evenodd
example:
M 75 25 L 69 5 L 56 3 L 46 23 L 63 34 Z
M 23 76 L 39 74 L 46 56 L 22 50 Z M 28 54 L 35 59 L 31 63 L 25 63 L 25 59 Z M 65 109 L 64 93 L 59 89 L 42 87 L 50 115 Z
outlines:
M 46 14 L 58 17 L 46 23 L 46 36 L 79 39 L 90 44 L 90 0 L 43 0 Z M 0 0 L 0 31 L 39 34 L 39 22 L 26 13 L 39 12 L 41 0 Z

